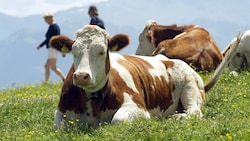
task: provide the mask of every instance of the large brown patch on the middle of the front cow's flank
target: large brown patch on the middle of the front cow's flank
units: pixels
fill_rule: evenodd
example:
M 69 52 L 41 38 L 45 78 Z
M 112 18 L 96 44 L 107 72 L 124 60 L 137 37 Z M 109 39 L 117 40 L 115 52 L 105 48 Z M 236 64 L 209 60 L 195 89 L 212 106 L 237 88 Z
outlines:
M 133 56 L 124 57 L 127 61 L 119 60 L 119 64 L 124 66 L 133 76 L 139 94 L 131 91 L 126 85 L 122 85 L 123 91 L 130 89 L 131 93 L 129 94 L 133 96 L 133 100 L 140 106 L 144 107 L 145 105 L 147 109 L 160 107 L 161 110 L 166 110 L 172 105 L 171 91 L 174 86 L 171 78 L 169 78 L 170 82 L 167 82 L 164 76 L 153 78 L 149 72 L 149 69 L 153 69 L 153 67 L 149 62 Z M 173 62 L 167 61 L 165 63 L 166 68 L 173 66 Z

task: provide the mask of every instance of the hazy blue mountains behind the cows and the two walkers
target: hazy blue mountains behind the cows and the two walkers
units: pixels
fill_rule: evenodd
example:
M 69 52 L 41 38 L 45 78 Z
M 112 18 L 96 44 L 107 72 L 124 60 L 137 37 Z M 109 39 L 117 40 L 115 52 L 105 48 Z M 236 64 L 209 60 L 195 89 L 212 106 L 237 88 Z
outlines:
M 129 34 L 130 45 L 121 51 L 123 54 L 134 54 L 138 45 L 138 36 L 144 24 L 149 19 L 155 19 L 159 24 L 198 24 L 206 28 L 217 41 L 220 49 L 226 47 L 239 31 L 247 28 L 239 20 L 211 19 L 209 16 L 199 16 L 197 7 L 184 2 L 184 7 L 192 8 L 190 16 L 185 9 L 179 8 L 183 3 L 179 1 L 127 1 L 109 0 L 97 3 L 100 17 L 105 22 L 108 33 L 113 36 L 117 33 Z M 201 6 L 202 3 L 198 3 Z M 191 5 L 191 6 L 190 6 Z M 56 22 L 61 27 L 62 34 L 74 38 L 77 29 L 89 23 L 88 7 L 74 7 L 55 13 Z M 220 10 L 223 10 L 222 8 Z M 237 9 L 236 9 L 237 10 Z M 198 16 L 197 16 L 198 15 Z M 37 51 L 36 46 L 45 39 L 48 25 L 42 15 L 15 17 L 0 14 L 0 88 L 33 84 L 44 80 L 44 64 L 47 57 L 45 47 Z M 59 57 L 58 67 L 65 75 L 72 64 L 72 56 Z M 53 81 L 60 80 L 54 72 Z

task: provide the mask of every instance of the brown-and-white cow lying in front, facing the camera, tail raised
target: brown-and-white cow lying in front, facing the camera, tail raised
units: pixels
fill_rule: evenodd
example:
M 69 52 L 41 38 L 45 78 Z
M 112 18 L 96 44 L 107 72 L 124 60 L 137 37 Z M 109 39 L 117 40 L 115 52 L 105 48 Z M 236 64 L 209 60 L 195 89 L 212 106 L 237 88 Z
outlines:
M 180 105 L 183 111 L 175 117 L 202 117 L 205 92 L 215 84 L 231 54 L 204 85 L 202 78 L 182 60 L 161 54 L 149 57 L 110 52 L 125 47 L 128 39 L 123 34 L 109 38 L 98 26 L 86 25 L 77 31 L 75 41 L 65 36 L 50 40 L 51 46 L 71 51 L 74 56 L 55 111 L 57 128 L 64 115 L 98 127 L 100 123 L 132 121 L 137 117 L 168 117 Z M 232 44 L 232 51 L 237 44 Z

